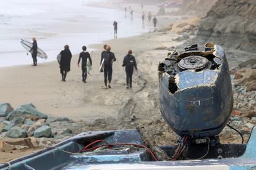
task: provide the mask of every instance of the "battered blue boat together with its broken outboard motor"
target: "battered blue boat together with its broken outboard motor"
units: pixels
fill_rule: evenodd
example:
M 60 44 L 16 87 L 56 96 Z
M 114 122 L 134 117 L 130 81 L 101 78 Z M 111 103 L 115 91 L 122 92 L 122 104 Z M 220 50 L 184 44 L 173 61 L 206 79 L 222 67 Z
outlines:
M 247 144 L 218 138 L 233 108 L 221 46 L 173 52 L 158 75 L 161 113 L 180 136 L 177 145 L 148 146 L 139 130 L 83 132 L 0 169 L 256 169 L 256 127 Z

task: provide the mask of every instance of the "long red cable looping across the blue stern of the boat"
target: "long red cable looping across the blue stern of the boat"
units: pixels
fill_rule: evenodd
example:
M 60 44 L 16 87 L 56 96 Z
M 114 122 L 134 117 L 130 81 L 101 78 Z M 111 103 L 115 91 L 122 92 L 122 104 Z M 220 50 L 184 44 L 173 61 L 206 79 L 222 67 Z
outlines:
M 93 144 L 96 144 L 98 142 L 105 142 L 106 144 L 104 145 L 98 145 L 96 147 L 92 147 L 92 148 L 88 148 L 90 146 L 92 146 Z M 108 142 L 106 142 L 106 140 L 96 140 L 94 142 L 92 142 L 91 144 L 88 144 L 87 146 L 85 146 L 81 152 L 87 152 L 89 150 L 94 150 L 96 148 L 99 148 L 99 147 L 103 147 L 103 146 L 108 146 L 108 148 L 111 148 L 111 146 L 137 146 L 137 147 L 142 147 L 142 148 L 145 148 L 147 150 L 148 153 L 150 153 L 150 155 L 154 158 L 155 161 L 158 161 L 158 158 L 156 158 L 156 156 L 154 155 L 154 153 L 148 148 L 146 147 L 145 145 L 140 145 L 140 144 L 109 144 Z

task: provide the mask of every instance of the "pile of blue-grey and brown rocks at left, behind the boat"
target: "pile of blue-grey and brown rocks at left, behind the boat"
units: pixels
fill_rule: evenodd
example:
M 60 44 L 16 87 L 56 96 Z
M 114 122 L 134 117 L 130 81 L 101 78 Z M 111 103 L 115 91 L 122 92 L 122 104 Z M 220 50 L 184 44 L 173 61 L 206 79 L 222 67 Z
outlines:
M 70 128 L 68 128 L 70 127 Z M 53 118 L 30 103 L 16 110 L 0 104 L 0 151 L 45 147 L 73 136 L 77 123 L 68 118 Z M 74 129 L 72 129 L 74 128 Z M 80 132 L 80 131 L 79 131 Z

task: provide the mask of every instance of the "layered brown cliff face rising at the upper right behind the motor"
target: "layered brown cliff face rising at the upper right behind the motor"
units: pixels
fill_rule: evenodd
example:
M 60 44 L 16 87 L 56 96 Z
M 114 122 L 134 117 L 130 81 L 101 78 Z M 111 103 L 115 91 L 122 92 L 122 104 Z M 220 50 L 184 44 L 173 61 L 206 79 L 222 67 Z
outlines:
M 256 1 L 219 0 L 198 26 L 197 39 L 256 52 Z

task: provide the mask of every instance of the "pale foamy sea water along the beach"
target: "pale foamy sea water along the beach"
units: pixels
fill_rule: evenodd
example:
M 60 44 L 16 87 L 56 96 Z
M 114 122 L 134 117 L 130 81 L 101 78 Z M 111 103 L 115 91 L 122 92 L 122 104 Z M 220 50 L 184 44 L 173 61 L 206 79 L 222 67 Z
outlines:
M 43 63 L 56 60 L 65 44 L 77 54 L 83 45 L 113 39 L 114 20 L 118 38 L 153 30 L 149 23 L 142 25 L 140 14 L 132 18 L 121 9 L 90 7 L 90 1 L 97 0 L 0 0 L 0 67 L 32 63 L 20 39 L 36 37 L 49 57 L 38 59 Z

